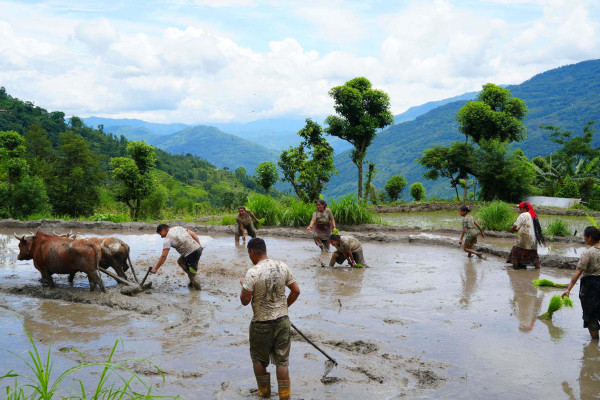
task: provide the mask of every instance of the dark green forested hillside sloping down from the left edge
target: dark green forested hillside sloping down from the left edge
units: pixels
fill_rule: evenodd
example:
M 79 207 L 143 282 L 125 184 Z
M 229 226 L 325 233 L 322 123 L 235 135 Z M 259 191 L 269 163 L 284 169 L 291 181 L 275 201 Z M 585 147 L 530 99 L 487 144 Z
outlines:
M 18 154 L 0 152 L 1 216 L 13 216 L 11 211 L 14 211 L 7 211 L 4 198 L 12 190 L 11 165 L 19 165 L 21 173 L 44 192 L 39 200 L 47 202 L 51 209 L 39 212 L 89 215 L 97 207 L 107 210 L 116 204 L 110 161 L 114 157 L 129 156 L 128 140 L 104 132 L 102 126 L 100 129 L 85 126 L 77 117 L 67 123 L 64 117 L 62 112 L 47 112 L 32 102 L 13 98 L 0 88 L 0 132 L 15 131 L 25 139 L 24 148 L 18 150 Z M 162 205 L 188 211 L 202 204 L 232 206 L 230 203 L 243 200 L 238 195 L 243 197 L 251 190 L 262 190 L 243 169 L 219 170 L 186 150 L 170 154 L 155 149 L 158 186 L 152 195 L 155 203 L 147 205 L 148 212 L 159 212 L 157 207 Z M 8 188 L 5 187 L 7 182 Z M 27 185 L 21 189 L 27 189 Z M 86 194 L 88 190 L 93 193 Z M 36 193 L 24 193 L 25 199 L 34 195 Z M 34 200 L 37 201 L 31 199 L 32 206 Z

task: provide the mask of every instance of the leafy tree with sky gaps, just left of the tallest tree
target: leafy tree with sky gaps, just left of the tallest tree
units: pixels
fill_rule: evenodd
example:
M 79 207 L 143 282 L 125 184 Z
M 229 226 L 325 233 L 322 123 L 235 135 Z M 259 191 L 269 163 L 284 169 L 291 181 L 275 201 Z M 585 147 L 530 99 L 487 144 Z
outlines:
M 283 180 L 292 185 L 296 196 L 305 203 L 314 203 L 331 176 L 337 173 L 333 148 L 323 137 L 321 126 L 310 118 L 298 135 L 302 138 L 300 146 L 282 151 L 277 164 Z

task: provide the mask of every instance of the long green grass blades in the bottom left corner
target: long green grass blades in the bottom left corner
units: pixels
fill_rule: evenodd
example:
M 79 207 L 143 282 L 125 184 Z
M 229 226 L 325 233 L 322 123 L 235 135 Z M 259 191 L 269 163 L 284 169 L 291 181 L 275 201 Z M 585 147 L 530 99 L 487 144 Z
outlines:
M 48 347 L 48 353 L 43 357 L 38 351 L 35 341 L 31 334 L 23 324 L 23 328 L 29 338 L 31 350 L 26 355 L 22 356 L 9 351 L 10 354 L 19 358 L 30 371 L 31 375 L 22 375 L 10 370 L 0 376 L 0 382 L 10 380 L 11 385 L 4 386 L 6 399 L 10 400 L 51 400 L 51 399 L 155 399 L 169 398 L 177 399 L 177 397 L 165 397 L 152 395 L 152 384 L 146 383 L 139 375 L 126 366 L 128 361 L 144 362 L 154 367 L 163 378 L 164 375 L 160 368 L 153 365 L 145 359 L 136 360 L 121 360 L 115 361 L 114 356 L 120 339 L 115 341 L 110 355 L 105 362 L 86 363 L 84 356 L 74 349 L 61 349 L 60 351 L 71 351 L 77 353 L 81 360 L 80 362 L 62 372 L 54 370 L 54 360 L 51 347 Z M 92 369 L 94 372 L 97 368 L 101 368 L 100 374 L 94 373 L 97 376 L 95 387 L 86 388 L 84 383 L 73 376 L 77 371 L 84 369 Z M 67 387 L 67 382 L 75 381 L 73 386 Z M 26 382 L 23 384 L 22 382 Z M 142 391 L 139 391 L 142 390 Z M 67 392 L 70 392 L 68 395 Z

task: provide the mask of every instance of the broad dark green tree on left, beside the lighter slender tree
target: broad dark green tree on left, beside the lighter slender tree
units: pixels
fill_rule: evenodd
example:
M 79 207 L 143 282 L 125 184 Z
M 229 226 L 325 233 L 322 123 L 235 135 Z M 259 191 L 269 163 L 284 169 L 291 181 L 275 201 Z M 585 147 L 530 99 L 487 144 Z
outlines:
M 49 183 L 54 212 L 71 216 L 90 215 L 100 200 L 104 176 L 97 155 L 78 134 L 59 136 L 56 163 Z

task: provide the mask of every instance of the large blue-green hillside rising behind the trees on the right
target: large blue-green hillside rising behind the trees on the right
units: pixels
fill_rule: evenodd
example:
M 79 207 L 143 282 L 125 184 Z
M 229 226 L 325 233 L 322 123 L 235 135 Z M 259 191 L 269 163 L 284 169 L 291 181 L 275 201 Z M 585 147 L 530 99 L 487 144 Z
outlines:
M 507 88 L 523 99 L 529 110 L 525 121 L 527 139 L 516 146 L 530 158 L 550 154 L 556 148 L 540 125 L 557 125 L 581 134 L 586 122 L 600 120 L 600 60 L 553 69 Z M 374 161 L 379 170 L 375 186 L 381 189 L 392 175 L 402 174 L 409 184 L 423 182 L 428 196 L 453 197 L 447 181 L 434 183 L 423 178 L 423 169 L 416 159 L 427 148 L 437 144 L 446 146 L 462 139 L 454 117 L 465 103 L 466 100 L 445 104 L 381 132 L 366 157 Z M 596 135 L 594 142 L 600 145 L 600 135 Z M 357 172 L 349 153 L 337 155 L 335 165 L 339 174 L 329 182 L 327 195 L 356 191 Z

